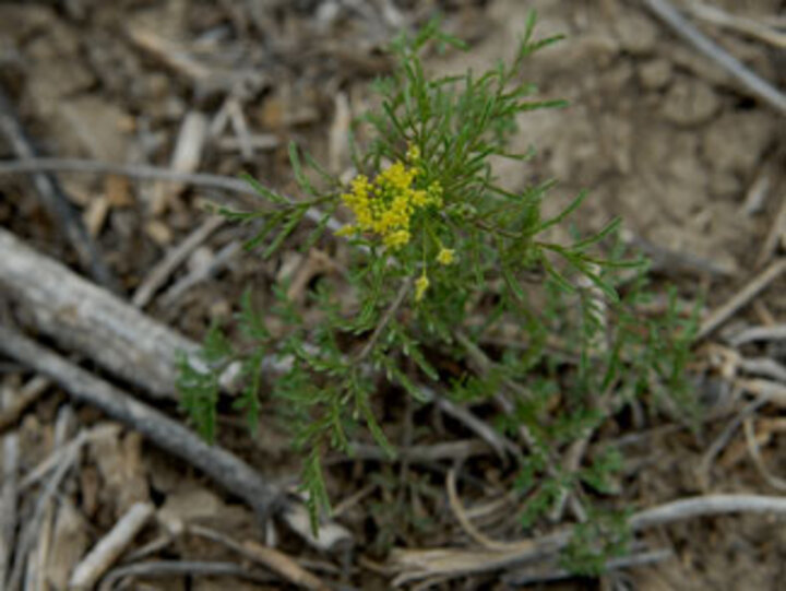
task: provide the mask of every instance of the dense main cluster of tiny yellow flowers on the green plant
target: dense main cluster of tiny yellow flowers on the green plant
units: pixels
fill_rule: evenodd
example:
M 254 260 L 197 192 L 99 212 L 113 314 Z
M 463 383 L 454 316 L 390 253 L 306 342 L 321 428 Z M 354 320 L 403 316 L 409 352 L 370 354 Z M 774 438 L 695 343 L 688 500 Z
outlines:
M 352 190 L 342 194 L 342 200 L 355 214 L 356 222 L 340 229 L 340 236 L 377 234 L 391 249 L 409 243 L 412 216 L 428 205 L 441 205 L 442 187 L 434 181 L 427 189 L 416 189 L 415 180 L 422 174 L 417 166 L 420 161 L 417 146 L 409 147 L 407 159 L 414 166 L 396 161 L 377 175 L 373 182 L 365 175 L 353 179 Z

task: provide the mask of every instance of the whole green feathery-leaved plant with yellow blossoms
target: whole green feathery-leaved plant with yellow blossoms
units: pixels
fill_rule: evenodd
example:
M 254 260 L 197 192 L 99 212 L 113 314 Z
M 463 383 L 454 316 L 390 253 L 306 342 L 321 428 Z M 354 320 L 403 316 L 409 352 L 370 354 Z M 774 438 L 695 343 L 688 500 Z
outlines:
M 437 23 L 400 36 L 391 47 L 396 68 L 374 84 L 380 109 L 354 127 L 353 179 L 343 184 L 306 156 L 319 175 L 310 178 L 293 146 L 293 170 L 306 199 L 293 201 L 253 182 L 273 208 L 226 212 L 261 222 L 249 247 L 263 246 L 270 257 L 319 208 L 302 248 L 346 249 L 346 273 L 325 277 L 312 292 L 309 305 L 319 322 L 288 299 L 286 286 L 274 285 L 272 311 L 279 322 L 273 331 L 247 293 L 239 326 L 248 344 L 237 347 L 214 329 L 203 355 L 210 371 L 183 364 L 181 375 L 183 406 L 207 436 L 218 376 L 233 362 L 240 363 L 246 382 L 236 405 L 251 425 L 263 388 L 279 402 L 303 457 L 302 490 L 314 528 L 330 508 L 325 451 L 348 452 L 352 440 L 370 433 L 394 457 L 380 419 L 403 393 L 422 405 L 434 395 L 488 405 L 497 427 L 521 444 L 511 454 L 527 499 L 527 525 L 565 495 L 586 503 L 588 488 L 611 494 L 615 456 L 567 471 L 556 458 L 571 444 L 632 401 L 648 397 L 655 404 L 662 393 L 686 391 L 694 322 L 676 306 L 664 319 L 632 311 L 645 293 L 643 280 L 630 275 L 641 271 L 641 261 L 623 260 L 618 249 L 599 253 L 618 221 L 590 237 L 555 243 L 550 229 L 567 223 L 584 194 L 544 220 L 540 204 L 553 181 L 503 187 L 495 175 L 495 159 L 524 166 L 532 156 L 508 149 L 521 116 L 564 106 L 533 99 L 537 88 L 521 80 L 525 60 L 559 38 L 535 40 L 534 24 L 533 16 L 511 63 L 479 75 L 426 74 L 420 56 L 429 46 L 465 49 Z M 348 282 L 341 293 L 352 297 L 336 295 L 338 281 Z M 499 342 L 501 328 L 511 344 L 485 347 Z M 263 380 L 263 362 L 275 362 L 267 367 L 279 371 Z M 619 533 L 609 539 L 623 539 Z M 590 549 L 574 553 L 585 571 L 603 563 Z M 599 562 L 592 563 L 596 555 Z

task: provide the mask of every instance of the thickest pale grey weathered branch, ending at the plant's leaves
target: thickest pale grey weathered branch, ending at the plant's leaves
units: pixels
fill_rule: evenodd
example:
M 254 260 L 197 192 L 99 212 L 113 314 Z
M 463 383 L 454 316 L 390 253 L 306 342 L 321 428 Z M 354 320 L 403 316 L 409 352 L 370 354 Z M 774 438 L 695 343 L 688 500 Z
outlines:
M 21 306 L 35 330 L 153 397 L 177 398 L 177 354 L 193 355 L 198 350 L 193 341 L 2 228 L 0 294 Z

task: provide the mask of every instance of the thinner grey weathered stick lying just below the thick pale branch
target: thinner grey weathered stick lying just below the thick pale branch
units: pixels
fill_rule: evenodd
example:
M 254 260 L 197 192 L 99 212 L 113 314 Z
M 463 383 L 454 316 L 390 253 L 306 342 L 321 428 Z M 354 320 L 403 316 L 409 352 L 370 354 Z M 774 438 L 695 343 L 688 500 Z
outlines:
M 206 444 L 176 421 L 19 332 L 0 327 L 0 351 L 49 376 L 74 400 L 97 406 L 107 415 L 140 432 L 158 447 L 196 466 L 242 498 L 261 519 L 269 517 L 281 504 L 282 492 L 236 456 Z

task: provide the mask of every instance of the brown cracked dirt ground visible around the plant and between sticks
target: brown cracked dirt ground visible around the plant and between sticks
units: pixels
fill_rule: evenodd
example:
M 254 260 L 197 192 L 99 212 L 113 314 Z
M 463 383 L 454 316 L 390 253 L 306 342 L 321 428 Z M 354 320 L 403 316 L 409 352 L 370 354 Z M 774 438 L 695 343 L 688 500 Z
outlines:
M 786 11 L 778 0 L 712 3 L 752 17 L 783 17 Z M 398 8 L 392 10 L 394 5 Z M 346 116 L 364 110 L 370 101 L 370 80 L 388 68 L 379 46 L 400 19 L 409 23 L 422 20 L 438 5 L 446 15 L 446 26 L 469 39 L 474 50 L 433 57 L 429 63 L 434 71 L 480 70 L 509 56 L 528 8 L 538 10 L 540 35 L 559 32 L 569 37 L 537 55 L 528 63 L 526 76 L 544 96 L 568 98 L 571 107 L 522 118 L 514 146 L 523 151 L 534 145 L 538 155 L 526 165 L 501 165 L 509 186 L 560 179 L 547 203 L 552 212 L 579 190 L 588 189 L 592 197 L 581 210 L 580 227 L 599 228 L 611 216 L 621 216 L 639 244 L 646 241 L 656 253 L 668 251 L 669 260 L 682 263 L 679 269 L 659 269 L 658 276 L 676 282 L 686 299 L 708 288 L 710 309 L 745 285 L 762 257 L 771 260 L 775 248 L 784 248 L 776 245 L 769 256 L 767 251 L 762 255 L 785 204 L 783 117 L 741 93 L 727 74 L 675 37 L 639 2 L 3 3 L 0 82 L 43 154 L 162 166 L 170 164 L 189 114 L 215 125 L 217 115 L 227 108 L 227 97 L 234 96 L 251 134 L 270 145 L 243 155 L 238 135 L 227 125 L 206 140 L 194 170 L 229 176 L 248 170 L 284 191 L 294 191 L 287 142 L 296 140 L 319 161 L 330 163 L 334 172 L 344 172 L 348 158 L 341 133 L 346 129 Z M 763 78 L 786 85 L 783 49 L 778 54 L 758 39 L 713 26 L 703 25 L 702 29 Z M 12 156 L 2 142 L 0 156 Z M 770 189 L 758 201 L 754 189 L 762 179 Z M 218 198 L 199 188 L 127 181 L 117 176 L 61 175 L 60 180 L 129 294 L 163 253 L 204 218 L 202 201 Z M 22 177 L 0 177 L 0 224 L 79 268 L 58 232 L 58 222 L 48 216 Z M 223 226 L 174 281 L 211 261 L 239 236 L 237 228 Z M 252 255 L 236 256 L 210 281 L 170 304 L 155 298 L 146 310 L 200 338 L 212 318 L 231 311 L 247 283 L 264 294 L 276 279 L 301 273 L 301 279 L 308 280 L 322 272 L 313 271 L 314 267 L 319 263 L 294 252 L 265 263 Z M 755 309 L 746 308 L 733 323 L 784 322 L 785 287 L 782 277 L 758 299 Z M 265 296 L 260 297 L 264 303 Z M 764 355 L 781 362 L 786 357 L 783 347 L 770 348 Z M 0 380 L 12 389 L 23 376 L 10 370 L 0 375 Z M 36 465 L 49 453 L 58 406 L 64 400 L 61 394 L 45 398 L 20 422 L 25 466 Z M 739 433 L 713 465 L 708 482 L 696 478 L 707 446 L 741 404 L 739 398 L 717 402 L 708 413 L 716 418 L 707 421 L 699 437 L 682 430 L 642 435 L 641 441 L 631 446 L 629 498 L 647 506 L 707 492 L 777 494 L 752 466 Z M 765 405 L 760 413 L 774 417 L 778 407 Z M 90 409 L 80 409 L 78 415 L 81 424 L 100 421 Z M 288 451 L 285 434 L 272 422 L 263 421 L 264 428 L 251 442 L 236 428 L 235 418 L 226 416 L 222 422 L 223 442 L 266 474 L 286 477 L 295 473 L 296 459 Z M 762 442 L 762 451 L 772 472 L 786 471 L 782 433 L 773 430 Z M 358 462 L 332 480 L 334 498 L 348 497 L 361 487 L 361 470 Z M 386 470 L 382 473 L 390 476 Z M 165 517 L 213 524 L 237 539 L 259 535 L 248 510 L 187 466 L 150 449 L 134 434 L 123 433 L 91 447 L 79 476 L 62 493 L 59 529 L 52 537 L 57 559 L 46 570 L 55 581 L 50 588 L 59 588 L 57 582 L 64 580 L 68 565 L 131 503 L 148 498 L 160 506 Z M 369 542 L 361 509 L 373 510 L 391 500 L 384 495 L 372 499 L 346 519 L 361 544 Z M 61 522 L 66 524 L 60 528 Z M 674 559 L 623 576 L 552 588 L 779 589 L 786 556 L 783 524 L 775 518 L 729 517 L 663 528 L 647 534 L 647 540 L 672 546 Z M 456 532 L 453 524 L 441 540 L 430 542 L 449 542 Z M 151 532 L 145 535 L 140 545 L 155 537 Z M 425 543 L 412 532 L 398 539 L 398 543 L 408 542 Z M 58 544 L 68 545 L 71 552 L 57 549 Z M 334 578 L 337 562 L 332 557 L 314 558 L 288 539 L 284 547 L 310 557 L 315 571 Z M 160 555 L 204 558 L 215 553 L 210 546 L 183 541 Z M 385 584 L 362 567 L 354 568 L 354 584 L 366 589 Z M 182 578 L 150 579 L 144 584 L 144 589 L 160 590 L 227 588 L 226 581 L 218 579 L 191 583 Z M 237 590 L 277 588 L 241 581 L 231 584 Z M 493 581 L 468 580 L 465 586 L 490 588 Z

